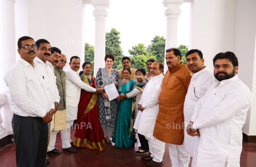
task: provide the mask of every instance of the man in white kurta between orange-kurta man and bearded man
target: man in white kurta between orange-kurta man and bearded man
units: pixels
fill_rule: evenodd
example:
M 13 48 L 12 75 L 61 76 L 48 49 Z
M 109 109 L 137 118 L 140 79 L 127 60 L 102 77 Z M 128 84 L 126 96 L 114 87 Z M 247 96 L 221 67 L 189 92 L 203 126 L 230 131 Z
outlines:
M 213 71 L 204 66 L 203 54 L 200 50 L 192 49 L 186 54 L 186 62 L 191 73 L 191 81 L 184 102 L 184 127 L 190 123 L 194 112 L 195 104 L 204 96 L 214 81 Z M 199 133 L 199 132 L 195 132 Z M 184 149 L 193 157 L 195 142 L 199 141 L 199 137 L 192 137 L 184 131 Z M 192 160 L 192 167 L 195 167 L 196 158 Z

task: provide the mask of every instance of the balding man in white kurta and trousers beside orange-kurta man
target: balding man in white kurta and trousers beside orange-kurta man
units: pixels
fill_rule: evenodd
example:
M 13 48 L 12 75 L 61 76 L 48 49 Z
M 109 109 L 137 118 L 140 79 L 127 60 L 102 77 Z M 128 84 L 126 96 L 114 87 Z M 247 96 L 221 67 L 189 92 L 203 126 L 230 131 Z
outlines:
M 164 66 L 161 62 L 154 62 L 150 67 L 152 79 L 147 83 L 138 104 L 138 110 L 134 129 L 148 140 L 150 156 L 143 157 L 149 161 L 147 165 L 151 167 L 163 164 L 165 153 L 165 143 L 153 137 L 155 120 L 158 114 L 158 97 L 161 91 L 164 75 L 162 74 Z

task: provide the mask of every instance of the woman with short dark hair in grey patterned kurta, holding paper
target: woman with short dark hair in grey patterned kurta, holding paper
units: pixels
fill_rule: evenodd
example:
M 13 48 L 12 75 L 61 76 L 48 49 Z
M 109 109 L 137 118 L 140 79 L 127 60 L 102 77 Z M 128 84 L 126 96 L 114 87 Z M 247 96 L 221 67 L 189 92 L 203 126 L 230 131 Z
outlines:
M 105 68 L 100 68 L 97 72 L 96 76 L 96 87 L 104 88 L 107 85 L 112 83 L 115 86 L 118 86 L 119 81 L 119 73 L 117 70 L 112 68 L 114 64 L 115 58 L 113 54 L 106 54 L 105 56 Z M 99 120 L 101 123 L 101 127 L 103 129 L 105 137 L 105 141 L 107 143 L 111 143 L 110 138 L 113 136 L 113 132 L 115 129 L 115 124 L 117 121 L 118 115 L 118 102 L 117 99 L 109 100 L 106 91 L 103 90 L 104 93 L 98 94 L 98 112 L 99 112 Z

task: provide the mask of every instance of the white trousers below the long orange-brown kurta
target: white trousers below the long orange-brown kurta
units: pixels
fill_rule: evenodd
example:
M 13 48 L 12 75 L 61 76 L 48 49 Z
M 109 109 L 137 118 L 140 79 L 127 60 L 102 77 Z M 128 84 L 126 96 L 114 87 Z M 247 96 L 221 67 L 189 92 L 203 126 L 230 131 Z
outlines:
M 172 167 L 188 167 L 190 156 L 185 151 L 184 145 L 169 145 L 169 153 L 172 161 Z

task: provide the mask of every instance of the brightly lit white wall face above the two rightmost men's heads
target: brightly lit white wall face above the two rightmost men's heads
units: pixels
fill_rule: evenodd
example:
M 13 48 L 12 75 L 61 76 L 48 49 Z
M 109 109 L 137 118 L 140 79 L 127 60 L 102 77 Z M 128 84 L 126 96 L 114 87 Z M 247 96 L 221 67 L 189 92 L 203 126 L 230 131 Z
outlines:
M 213 70 L 213 57 L 233 50 L 234 0 L 194 0 L 192 45 L 202 51 L 205 65 Z

